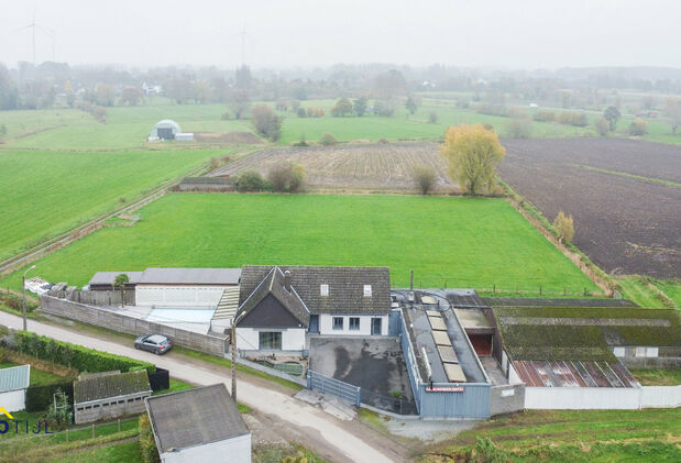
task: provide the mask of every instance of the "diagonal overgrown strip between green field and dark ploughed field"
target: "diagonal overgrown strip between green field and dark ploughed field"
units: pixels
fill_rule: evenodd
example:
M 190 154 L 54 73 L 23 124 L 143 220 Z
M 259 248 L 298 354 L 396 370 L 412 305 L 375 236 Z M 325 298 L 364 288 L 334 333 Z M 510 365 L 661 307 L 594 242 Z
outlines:
M 502 186 L 504 188 L 506 188 L 509 192 L 509 196 L 506 198 L 506 200 L 508 201 L 508 203 L 510 206 L 513 206 L 513 208 L 515 210 L 517 210 L 520 216 L 523 216 L 539 233 L 541 233 L 551 244 L 553 244 L 553 246 L 556 246 L 556 249 L 558 249 L 558 251 L 560 251 L 565 257 L 568 257 L 570 261 L 572 261 L 572 263 L 574 265 L 576 265 L 576 267 L 584 274 L 586 275 L 586 277 L 589 279 L 591 279 L 598 288 L 601 288 L 603 291 L 605 291 L 605 295 L 608 297 L 613 296 L 613 287 L 615 286 L 613 284 L 612 280 L 609 280 L 607 278 L 607 275 L 604 273 L 604 275 L 606 275 L 605 277 L 598 275 L 594 269 L 592 269 L 590 267 L 590 265 L 593 265 L 595 268 L 600 269 L 601 272 L 603 272 L 598 266 L 596 266 L 596 264 L 594 264 L 593 262 L 591 262 L 591 260 L 584 255 L 583 253 L 575 253 L 570 251 L 564 244 L 561 244 L 556 236 L 553 235 L 553 233 L 551 233 L 550 230 L 548 230 L 546 228 L 546 225 L 543 223 L 541 223 L 541 221 L 534 217 L 532 214 L 530 214 L 523 206 L 520 206 L 520 201 L 524 201 L 525 203 L 531 205 L 531 202 L 529 202 L 527 199 L 525 199 L 523 196 L 520 196 L 518 192 L 516 192 L 510 185 L 508 185 L 507 183 L 505 183 L 503 180 L 503 178 L 501 177 L 501 175 L 498 175 L 498 178 L 502 183 Z M 520 199 L 520 201 L 518 201 L 518 199 Z M 534 207 L 534 206 L 532 206 Z M 537 213 L 542 217 L 545 220 L 546 219 L 543 217 L 543 214 L 539 211 L 539 209 L 535 208 L 535 210 L 537 211 Z M 576 246 L 575 246 L 576 247 Z

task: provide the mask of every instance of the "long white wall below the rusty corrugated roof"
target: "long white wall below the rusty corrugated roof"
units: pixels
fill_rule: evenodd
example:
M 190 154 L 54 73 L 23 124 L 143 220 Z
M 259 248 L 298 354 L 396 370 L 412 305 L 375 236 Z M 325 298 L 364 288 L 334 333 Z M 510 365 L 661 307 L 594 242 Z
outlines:
M 526 387 L 525 408 L 552 410 L 636 410 L 638 387 Z

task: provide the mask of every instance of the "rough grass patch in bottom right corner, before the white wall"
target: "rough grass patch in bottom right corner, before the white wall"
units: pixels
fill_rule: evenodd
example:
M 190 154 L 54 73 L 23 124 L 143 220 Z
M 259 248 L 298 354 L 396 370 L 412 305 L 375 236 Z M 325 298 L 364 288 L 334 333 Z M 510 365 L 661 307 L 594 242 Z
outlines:
M 446 461 L 438 455 L 461 454 L 486 438 L 507 452 L 498 461 L 678 461 L 671 456 L 678 458 L 673 442 L 680 433 L 681 409 L 526 410 L 482 422 L 432 445 L 421 459 Z

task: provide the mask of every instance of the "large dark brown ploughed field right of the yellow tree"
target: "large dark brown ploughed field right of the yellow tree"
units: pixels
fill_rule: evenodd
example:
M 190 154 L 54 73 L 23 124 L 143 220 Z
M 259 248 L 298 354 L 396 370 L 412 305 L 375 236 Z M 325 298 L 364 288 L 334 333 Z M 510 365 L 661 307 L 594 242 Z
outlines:
M 681 183 L 681 147 L 623 139 L 503 144 L 502 178 L 547 219 L 572 214 L 574 243 L 601 268 L 681 277 L 681 186 L 659 181 Z

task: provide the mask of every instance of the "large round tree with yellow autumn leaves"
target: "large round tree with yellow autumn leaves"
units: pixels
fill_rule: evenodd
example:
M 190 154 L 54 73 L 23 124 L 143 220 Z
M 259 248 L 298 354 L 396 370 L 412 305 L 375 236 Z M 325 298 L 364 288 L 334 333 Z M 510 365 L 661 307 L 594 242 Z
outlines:
M 493 130 L 463 124 L 449 128 L 441 154 L 449 164 L 450 177 L 462 191 L 484 195 L 494 187 L 496 166 L 506 150 Z

